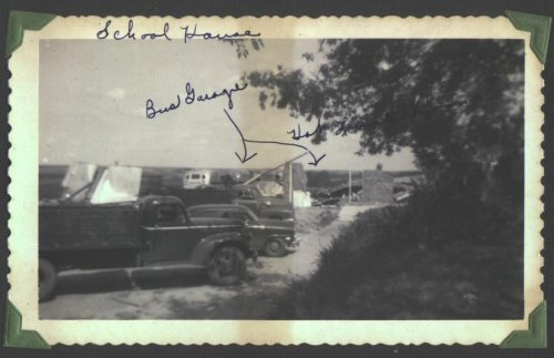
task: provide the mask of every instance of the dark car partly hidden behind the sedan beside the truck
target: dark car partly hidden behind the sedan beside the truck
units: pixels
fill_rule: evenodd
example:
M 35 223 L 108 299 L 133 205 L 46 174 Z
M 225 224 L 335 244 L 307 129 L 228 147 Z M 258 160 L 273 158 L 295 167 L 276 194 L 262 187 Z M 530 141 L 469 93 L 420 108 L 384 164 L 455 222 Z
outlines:
M 281 221 L 295 219 L 294 207 L 287 200 L 264 196 L 256 186 L 238 184 L 230 188 L 234 204 L 250 208 L 256 215 L 264 218 Z

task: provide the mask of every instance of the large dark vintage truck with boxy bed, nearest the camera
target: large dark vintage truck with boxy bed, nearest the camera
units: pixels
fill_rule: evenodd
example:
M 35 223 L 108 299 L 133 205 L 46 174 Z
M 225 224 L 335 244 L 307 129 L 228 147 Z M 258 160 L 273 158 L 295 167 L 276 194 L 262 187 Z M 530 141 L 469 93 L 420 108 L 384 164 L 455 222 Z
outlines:
M 185 264 L 207 270 L 216 285 L 234 285 L 256 259 L 237 221 L 189 218 L 172 196 L 90 204 L 42 203 L 39 208 L 39 299 L 55 293 L 58 272 Z

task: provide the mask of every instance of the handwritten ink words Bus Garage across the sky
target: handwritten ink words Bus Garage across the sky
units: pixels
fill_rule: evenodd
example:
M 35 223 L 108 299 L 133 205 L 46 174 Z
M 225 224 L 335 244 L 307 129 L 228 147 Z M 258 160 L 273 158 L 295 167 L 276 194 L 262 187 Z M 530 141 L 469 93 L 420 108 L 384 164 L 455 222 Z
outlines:
M 223 89 L 219 92 L 212 92 L 212 93 L 205 93 L 205 94 L 196 94 L 196 90 L 194 86 L 191 84 L 191 82 L 186 82 L 185 84 L 185 99 L 184 103 L 185 104 L 194 104 L 195 102 L 205 102 L 205 101 L 213 101 L 219 96 L 225 96 L 227 99 L 227 106 L 229 110 L 233 110 L 234 103 L 233 103 L 233 93 L 244 91 L 248 86 L 248 83 L 245 83 L 243 86 L 238 85 L 238 83 L 235 83 L 234 88 L 230 89 Z M 158 114 L 164 114 L 171 111 L 175 111 L 181 106 L 181 95 L 177 94 L 176 101 L 170 103 L 167 106 L 163 106 L 160 109 L 156 109 L 154 105 L 154 101 L 151 99 L 146 100 L 146 117 L 148 120 L 153 120 L 156 117 Z

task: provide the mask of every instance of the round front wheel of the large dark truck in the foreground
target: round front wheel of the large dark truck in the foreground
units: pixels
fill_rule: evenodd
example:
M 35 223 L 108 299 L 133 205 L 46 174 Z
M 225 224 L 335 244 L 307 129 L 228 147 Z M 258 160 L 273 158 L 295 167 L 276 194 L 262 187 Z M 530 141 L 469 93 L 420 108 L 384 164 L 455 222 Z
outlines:
M 246 258 L 236 246 L 217 248 L 208 265 L 209 280 L 219 286 L 236 285 L 246 273 Z

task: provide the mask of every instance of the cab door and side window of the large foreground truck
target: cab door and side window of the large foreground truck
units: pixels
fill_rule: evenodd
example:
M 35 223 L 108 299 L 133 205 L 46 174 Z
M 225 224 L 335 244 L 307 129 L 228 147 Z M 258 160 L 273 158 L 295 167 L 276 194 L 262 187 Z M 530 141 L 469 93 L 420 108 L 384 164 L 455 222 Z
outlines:
M 143 226 L 143 264 L 184 263 L 203 237 L 189 225 L 181 205 L 160 203 L 151 211 L 152 224 Z

